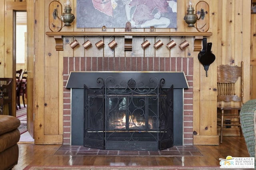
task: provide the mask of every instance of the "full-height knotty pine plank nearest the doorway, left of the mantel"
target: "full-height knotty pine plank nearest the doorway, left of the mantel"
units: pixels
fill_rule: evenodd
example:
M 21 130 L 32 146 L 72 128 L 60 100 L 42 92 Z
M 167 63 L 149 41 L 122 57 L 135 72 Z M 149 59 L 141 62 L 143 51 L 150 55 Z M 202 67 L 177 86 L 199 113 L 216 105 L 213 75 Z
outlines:
M 35 59 L 34 59 L 34 113 L 35 113 L 35 121 L 34 121 L 34 139 L 35 144 L 44 144 L 44 80 L 47 79 L 44 74 L 44 51 L 45 51 L 45 35 L 44 29 L 48 28 L 48 25 L 45 26 L 45 4 L 49 4 L 50 0 L 40 1 L 37 0 L 35 5 L 35 16 L 34 19 L 36 21 L 34 25 L 34 46 L 35 51 Z M 48 13 L 48 12 L 47 12 Z M 51 42 L 53 45 L 55 42 Z M 55 45 L 53 45 L 55 46 Z M 47 94 L 50 95 L 50 94 Z

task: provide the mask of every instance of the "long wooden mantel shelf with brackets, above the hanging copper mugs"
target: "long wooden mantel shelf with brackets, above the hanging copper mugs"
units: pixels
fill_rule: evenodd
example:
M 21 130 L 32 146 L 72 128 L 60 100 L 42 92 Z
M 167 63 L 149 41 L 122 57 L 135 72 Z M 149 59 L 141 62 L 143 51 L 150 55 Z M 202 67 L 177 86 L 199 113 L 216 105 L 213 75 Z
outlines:
M 203 37 L 209 37 L 212 32 L 46 32 L 46 35 L 54 37 L 56 51 L 63 51 L 63 36 L 124 36 L 130 39 L 132 36 L 173 36 L 173 37 L 195 37 L 194 51 L 201 51 Z M 127 41 L 130 46 L 131 41 Z

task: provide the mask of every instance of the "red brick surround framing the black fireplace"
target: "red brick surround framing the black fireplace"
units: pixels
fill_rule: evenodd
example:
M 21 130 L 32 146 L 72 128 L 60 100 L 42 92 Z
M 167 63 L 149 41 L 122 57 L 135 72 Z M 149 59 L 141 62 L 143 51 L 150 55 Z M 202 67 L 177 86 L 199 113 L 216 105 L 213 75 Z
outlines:
M 183 145 L 193 144 L 193 58 L 182 57 L 64 57 L 63 144 L 71 145 L 71 92 L 65 88 L 71 71 L 184 72 L 189 89 L 184 89 Z

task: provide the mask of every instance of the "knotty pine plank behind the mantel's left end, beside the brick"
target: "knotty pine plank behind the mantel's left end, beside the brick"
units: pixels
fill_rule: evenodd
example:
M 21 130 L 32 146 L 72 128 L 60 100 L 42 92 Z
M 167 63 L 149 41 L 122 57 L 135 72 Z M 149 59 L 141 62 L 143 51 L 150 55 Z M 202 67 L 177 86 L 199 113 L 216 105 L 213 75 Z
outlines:
M 48 14 L 48 7 L 50 0 L 45 3 L 44 14 Z M 50 31 L 48 25 L 48 17 L 45 16 L 44 29 L 40 31 Z M 44 37 L 44 76 L 47 77 L 44 80 L 44 135 L 58 135 L 59 129 L 59 108 L 58 108 L 58 70 L 59 70 L 59 57 L 58 51 L 56 51 L 54 45 L 51 45 L 52 38 L 45 35 Z M 50 95 L 49 95 L 50 94 Z

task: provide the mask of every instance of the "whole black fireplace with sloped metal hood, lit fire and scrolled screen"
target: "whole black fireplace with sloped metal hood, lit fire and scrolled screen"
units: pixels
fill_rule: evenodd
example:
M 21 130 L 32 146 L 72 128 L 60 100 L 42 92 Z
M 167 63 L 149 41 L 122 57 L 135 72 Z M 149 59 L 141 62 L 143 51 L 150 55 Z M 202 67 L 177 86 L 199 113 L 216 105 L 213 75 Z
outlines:
M 183 144 L 184 72 L 71 72 L 66 88 L 72 88 L 72 145 L 81 139 L 103 150 Z

